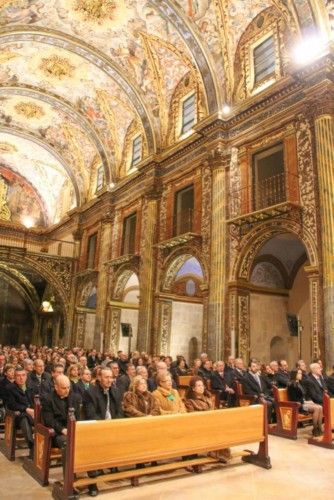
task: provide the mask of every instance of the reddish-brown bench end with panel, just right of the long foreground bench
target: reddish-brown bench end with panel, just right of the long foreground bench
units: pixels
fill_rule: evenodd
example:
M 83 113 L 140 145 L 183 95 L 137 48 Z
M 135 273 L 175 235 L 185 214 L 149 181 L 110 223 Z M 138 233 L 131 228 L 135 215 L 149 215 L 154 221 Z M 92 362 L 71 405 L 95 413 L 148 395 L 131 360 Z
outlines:
M 297 428 L 301 424 L 312 423 L 310 415 L 299 413 L 300 403 L 289 401 L 288 390 L 273 386 L 277 423 L 269 427 L 269 434 L 297 439 Z

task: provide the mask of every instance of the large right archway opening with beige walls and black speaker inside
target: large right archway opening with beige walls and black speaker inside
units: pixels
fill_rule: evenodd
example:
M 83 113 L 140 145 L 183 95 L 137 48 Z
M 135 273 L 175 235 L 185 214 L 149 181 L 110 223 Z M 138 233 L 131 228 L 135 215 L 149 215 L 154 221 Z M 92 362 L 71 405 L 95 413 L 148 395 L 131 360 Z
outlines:
M 290 366 L 311 360 L 308 265 L 304 244 L 291 233 L 269 238 L 258 250 L 249 280 L 250 357 L 285 358 Z

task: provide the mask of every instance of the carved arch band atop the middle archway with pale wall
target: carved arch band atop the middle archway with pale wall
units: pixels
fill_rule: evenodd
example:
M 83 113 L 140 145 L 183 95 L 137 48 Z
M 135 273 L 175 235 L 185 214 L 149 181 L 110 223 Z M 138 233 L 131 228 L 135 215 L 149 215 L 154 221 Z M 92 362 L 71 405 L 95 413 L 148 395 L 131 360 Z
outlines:
M 200 252 L 192 248 L 182 248 L 172 252 L 163 265 L 163 273 L 159 287 L 161 291 L 169 292 L 171 290 L 172 283 L 175 280 L 178 271 L 182 265 L 191 258 L 195 258 L 199 262 L 203 271 L 203 282 L 208 282 L 207 266 L 204 263 Z

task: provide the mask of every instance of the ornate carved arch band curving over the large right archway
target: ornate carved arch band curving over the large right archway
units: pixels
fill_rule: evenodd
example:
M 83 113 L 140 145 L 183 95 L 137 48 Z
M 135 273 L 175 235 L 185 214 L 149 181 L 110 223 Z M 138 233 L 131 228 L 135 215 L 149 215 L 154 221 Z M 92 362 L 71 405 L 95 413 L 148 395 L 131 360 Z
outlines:
M 249 281 L 252 264 L 258 254 L 259 249 L 270 238 L 282 233 L 292 233 L 304 245 L 310 262 L 310 266 L 318 268 L 319 258 L 314 239 L 300 224 L 295 221 L 279 220 L 273 225 L 272 221 L 263 223 L 252 229 L 240 242 L 242 251 L 237 257 L 232 267 L 231 281 Z

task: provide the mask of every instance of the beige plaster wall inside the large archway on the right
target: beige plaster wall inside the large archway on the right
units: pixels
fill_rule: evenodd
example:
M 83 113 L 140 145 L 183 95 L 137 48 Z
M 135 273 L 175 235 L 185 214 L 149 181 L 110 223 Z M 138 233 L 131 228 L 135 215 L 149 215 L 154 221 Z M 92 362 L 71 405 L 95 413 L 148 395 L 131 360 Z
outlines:
M 292 367 L 298 357 L 298 340 L 291 337 L 286 313 L 288 298 L 278 295 L 251 293 L 250 296 L 250 357 L 263 362 L 270 360 L 270 342 L 276 337 L 284 341 L 284 358 Z

